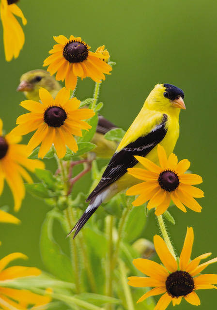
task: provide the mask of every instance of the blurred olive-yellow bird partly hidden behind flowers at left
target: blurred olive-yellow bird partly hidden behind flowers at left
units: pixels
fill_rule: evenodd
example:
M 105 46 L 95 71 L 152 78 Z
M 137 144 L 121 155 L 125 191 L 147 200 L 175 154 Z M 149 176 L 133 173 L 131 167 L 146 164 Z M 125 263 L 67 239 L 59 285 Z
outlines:
M 62 86 L 50 74 L 41 69 L 32 70 L 24 73 L 20 78 L 20 84 L 17 88 L 18 92 L 24 92 L 25 96 L 34 101 L 39 101 L 39 89 L 43 87 L 55 98 Z M 116 148 L 115 141 L 109 141 L 104 138 L 104 135 L 111 129 L 117 128 L 114 124 L 99 115 L 96 133 L 92 139 L 92 143 L 96 144 L 93 153 L 100 158 L 110 158 Z

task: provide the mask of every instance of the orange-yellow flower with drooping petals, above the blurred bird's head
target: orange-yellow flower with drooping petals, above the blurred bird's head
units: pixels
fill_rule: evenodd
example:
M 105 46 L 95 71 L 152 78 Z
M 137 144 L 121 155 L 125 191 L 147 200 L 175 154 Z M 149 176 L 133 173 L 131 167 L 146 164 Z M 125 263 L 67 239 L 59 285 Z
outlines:
M 106 56 L 101 53 L 93 53 L 90 47 L 81 40 L 80 37 L 73 35 L 67 39 L 64 35 L 53 37 L 58 43 L 49 51 L 50 55 L 44 61 L 43 66 L 48 66 L 47 71 L 56 74 L 58 81 L 65 80 L 65 87 L 74 90 L 77 78 L 90 77 L 95 82 L 105 79 L 112 67 L 103 62 Z

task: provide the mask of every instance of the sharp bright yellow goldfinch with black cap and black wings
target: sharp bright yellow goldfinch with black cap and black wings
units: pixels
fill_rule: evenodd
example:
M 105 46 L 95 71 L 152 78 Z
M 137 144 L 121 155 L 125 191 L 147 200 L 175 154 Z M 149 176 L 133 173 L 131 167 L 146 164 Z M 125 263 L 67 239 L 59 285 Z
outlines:
M 134 155 L 157 163 L 158 143 L 165 148 L 167 155 L 171 154 L 179 137 L 180 109 L 186 109 L 183 98 L 183 91 L 176 86 L 155 85 L 125 133 L 99 184 L 87 198 L 90 204 L 71 231 L 75 231 L 74 238 L 102 202 L 141 182 L 127 173 L 128 168 L 141 168 Z

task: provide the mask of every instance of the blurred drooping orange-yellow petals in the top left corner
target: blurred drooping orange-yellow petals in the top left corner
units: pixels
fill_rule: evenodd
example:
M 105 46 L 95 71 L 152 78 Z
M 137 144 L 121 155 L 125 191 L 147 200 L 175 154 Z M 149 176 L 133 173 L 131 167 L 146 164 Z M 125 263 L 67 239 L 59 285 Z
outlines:
M 0 17 L 3 26 L 3 41 L 6 61 L 10 62 L 12 58 L 19 56 L 22 49 L 25 36 L 22 27 L 16 20 L 15 16 L 22 19 L 23 25 L 27 24 L 20 8 L 16 5 L 18 0 L 1 0 L 0 3 Z

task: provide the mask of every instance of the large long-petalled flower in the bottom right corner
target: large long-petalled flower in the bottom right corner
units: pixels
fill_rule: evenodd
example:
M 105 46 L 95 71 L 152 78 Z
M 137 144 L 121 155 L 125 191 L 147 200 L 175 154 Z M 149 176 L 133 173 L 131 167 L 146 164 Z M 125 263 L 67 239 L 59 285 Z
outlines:
M 135 259 L 133 264 L 148 277 L 129 277 L 128 284 L 135 287 L 154 287 L 145 293 L 137 302 L 145 300 L 149 296 L 163 294 L 154 310 L 165 310 L 172 301 L 172 305 L 179 305 L 182 297 L 192 305 L 201 304 L 196 290 L 217 288 L 217 275 L 201 275 L 210 263 L 216 263 L 217 257 L 200 264 L 202 259 L 207 258 L 212 253 L 205 253 L 190 261 L 191 250 L 194 241 L 192 227 L 187 228 L 186 239 L 179 258 L 179 263 L 172 256 L 164 240 L 154 236 L 154 244 L 157 255 L 163 265 L 147 259 Z M 200 275 L 199 275 L 200 274 Z

